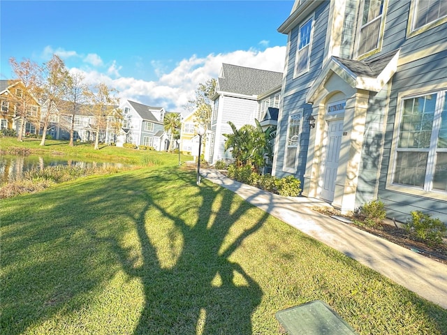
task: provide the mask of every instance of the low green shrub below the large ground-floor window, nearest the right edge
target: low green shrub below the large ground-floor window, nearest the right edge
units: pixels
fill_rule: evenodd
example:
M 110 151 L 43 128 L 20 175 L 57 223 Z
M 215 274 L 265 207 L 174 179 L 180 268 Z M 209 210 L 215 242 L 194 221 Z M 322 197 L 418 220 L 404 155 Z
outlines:
M 446 225 L 439 218 L 432 218 L 422 211 L 411 211 L 411 218 L 406 221 L 404 228 L 409 234 L 429 244 L 441 244 L 447 231 Z

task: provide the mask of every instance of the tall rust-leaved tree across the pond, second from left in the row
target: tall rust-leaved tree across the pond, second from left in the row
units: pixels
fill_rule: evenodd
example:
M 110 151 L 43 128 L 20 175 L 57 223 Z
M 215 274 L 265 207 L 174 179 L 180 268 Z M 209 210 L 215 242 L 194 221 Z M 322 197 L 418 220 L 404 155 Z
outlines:
M 43 86 L 41 88 L 41 101 L 46 104 L 46 111 L 42 113 L 43 123 L 42 140 L 40 145 L 45 145 L 45 135 L 52 115 L 56 113 L 66 93 L 68 83 L 68 70 L 64 61 L 53 54 L 53 57 L 43 66 Z

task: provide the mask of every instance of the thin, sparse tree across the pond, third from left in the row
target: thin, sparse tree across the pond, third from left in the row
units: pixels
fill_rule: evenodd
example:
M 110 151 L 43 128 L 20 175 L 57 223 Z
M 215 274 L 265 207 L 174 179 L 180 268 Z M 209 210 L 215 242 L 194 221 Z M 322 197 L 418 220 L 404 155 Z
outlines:
M 70 132 L 70 147 L 74 146 L 75 117 L 79 115 L 83 105 L 87 102 L 87 85 L 84 84 L 84 76 L 81 73 L 68 74 L 65 101 L 61 107 L 68 113 L 68 124 L 65 128 Z

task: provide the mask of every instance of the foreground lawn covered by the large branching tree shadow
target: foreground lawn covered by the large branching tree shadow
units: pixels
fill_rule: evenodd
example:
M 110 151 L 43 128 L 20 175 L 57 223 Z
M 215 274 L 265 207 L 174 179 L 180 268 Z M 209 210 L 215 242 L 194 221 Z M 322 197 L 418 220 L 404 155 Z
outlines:
M 193 171 L 1 200 L 0 334 L 278 334 L 322 299 L 359 334 L 447 334 L 447 311 Z

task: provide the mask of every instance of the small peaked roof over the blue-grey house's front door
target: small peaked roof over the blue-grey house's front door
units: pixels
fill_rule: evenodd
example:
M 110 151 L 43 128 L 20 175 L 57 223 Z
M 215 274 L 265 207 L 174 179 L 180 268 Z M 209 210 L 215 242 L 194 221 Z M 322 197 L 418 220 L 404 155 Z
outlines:
M 325 83 L 334 73 L 354 89 L 379 92 L 395 74 L 399 54 L 400 50 L 394 50 L 367 61 L 332 56 L 309 89 L 306 102 L 316 101 Z

